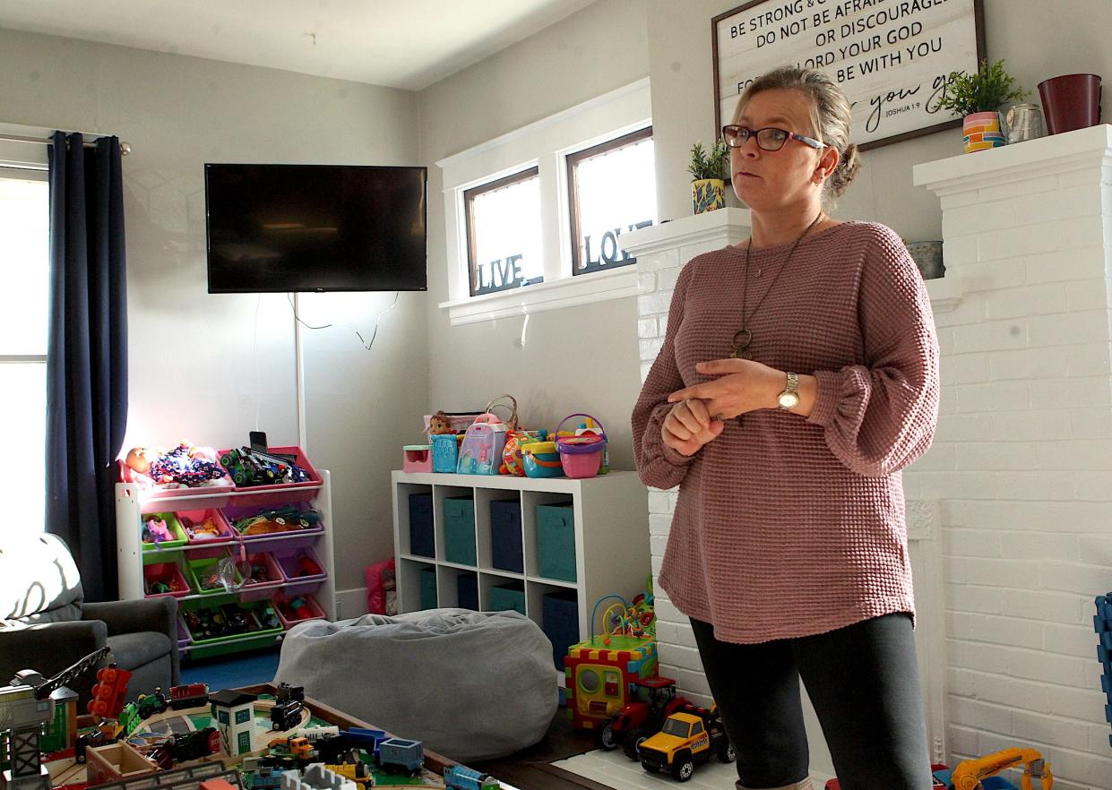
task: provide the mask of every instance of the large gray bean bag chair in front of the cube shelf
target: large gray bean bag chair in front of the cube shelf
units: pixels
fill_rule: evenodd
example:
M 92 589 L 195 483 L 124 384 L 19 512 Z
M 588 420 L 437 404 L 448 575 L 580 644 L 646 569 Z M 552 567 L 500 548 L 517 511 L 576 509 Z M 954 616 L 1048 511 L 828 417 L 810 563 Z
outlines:
M 312 620 L 286 634 L 275 683 L 459 762 L 512 754 L 559 703 L 553 648 L 515 611 L 430 609 Z

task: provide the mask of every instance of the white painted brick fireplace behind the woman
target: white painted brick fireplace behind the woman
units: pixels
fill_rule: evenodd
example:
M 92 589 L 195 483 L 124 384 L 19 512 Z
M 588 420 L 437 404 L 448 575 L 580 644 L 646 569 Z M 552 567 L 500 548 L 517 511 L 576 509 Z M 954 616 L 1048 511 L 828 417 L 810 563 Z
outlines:
M 1112 590 L 1112 126 L 913 177 L 941 199 L 946 264 L 927 282 L 937 432 L 904 474 L 932 757 L 1030 747 L 1059 790 L 1112 790 L 1092 626 Z M 623 236 L 642 380 L 682 266 L 747 234 L 748 212 L 727 208 Z M 675 498 L 648 491 L 654 577 Z M 662 672 L 705 698 L 686 618 L 656 592 Z M 811 711 L 807 724 L 814 769 L 833 772 Z

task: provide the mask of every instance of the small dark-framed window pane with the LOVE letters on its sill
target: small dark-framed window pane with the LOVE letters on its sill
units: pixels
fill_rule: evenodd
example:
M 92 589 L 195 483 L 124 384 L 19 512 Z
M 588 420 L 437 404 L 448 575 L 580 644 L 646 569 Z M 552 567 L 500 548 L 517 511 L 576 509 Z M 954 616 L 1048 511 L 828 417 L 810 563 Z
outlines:
M 636 263 L 618 239 L 656 220 L 653 128 L 569 153 L 566 161 L 572 274 Z

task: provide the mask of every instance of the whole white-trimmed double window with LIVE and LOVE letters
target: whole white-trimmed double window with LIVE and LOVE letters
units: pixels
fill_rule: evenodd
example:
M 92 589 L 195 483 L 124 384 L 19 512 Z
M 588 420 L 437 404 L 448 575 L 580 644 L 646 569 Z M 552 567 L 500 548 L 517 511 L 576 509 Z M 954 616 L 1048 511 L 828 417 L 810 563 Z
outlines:
M 656 217 L 651 108 L 646 78 L 437 162 L 453 326 L 637 296 L 618 241 Z

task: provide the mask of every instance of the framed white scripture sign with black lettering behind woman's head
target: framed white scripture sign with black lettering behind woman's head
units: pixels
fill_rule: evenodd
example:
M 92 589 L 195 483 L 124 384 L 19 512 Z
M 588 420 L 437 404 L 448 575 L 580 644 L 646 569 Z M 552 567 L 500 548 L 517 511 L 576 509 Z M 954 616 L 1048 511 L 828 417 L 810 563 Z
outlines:
M 949 74 L 974 72 L 984 57 L 982 2 L 753 0 L 718 14 L 711 23 L 715 130 L 749 82 L 790 63 L 837 80 L 861 149 L 961 126 L 934 108 Z

